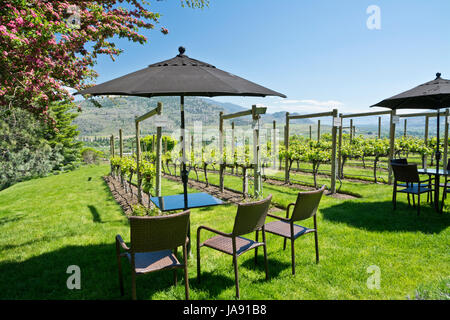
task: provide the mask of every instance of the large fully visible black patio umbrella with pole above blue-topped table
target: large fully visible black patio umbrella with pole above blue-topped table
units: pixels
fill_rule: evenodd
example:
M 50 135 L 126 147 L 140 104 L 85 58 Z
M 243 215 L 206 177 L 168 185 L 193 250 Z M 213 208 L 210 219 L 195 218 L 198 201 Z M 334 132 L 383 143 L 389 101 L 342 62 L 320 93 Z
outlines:
M 185 150 L 185 96 L 279 96 L 286 98 L 284 94 L 217 69 L 209 63 L 191 59 L 184 54 L 183 47 L 179 47 L 178 50 L 179 54 L 172 59 L 151 64 L 145 69 L 79 91 L 76 94 L 129 95 L 149 98 L 179 95 L 183 150 Z M 187 207 L 188 175 L 184 159 L 182 180 L 185 207 Z

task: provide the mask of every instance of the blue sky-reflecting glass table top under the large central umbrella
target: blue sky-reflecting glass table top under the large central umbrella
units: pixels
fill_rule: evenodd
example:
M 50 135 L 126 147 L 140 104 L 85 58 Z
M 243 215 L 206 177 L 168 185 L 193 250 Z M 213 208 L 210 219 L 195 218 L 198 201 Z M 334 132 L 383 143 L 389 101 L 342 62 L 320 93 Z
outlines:
M 176 194 L 164 197 L 150 197 L 153 204 L 161 211 L 183 210 L 184 195 Z M 223 201 L 205 193 L 188 193 L 187 209 L 211 207 L 223 204 Z

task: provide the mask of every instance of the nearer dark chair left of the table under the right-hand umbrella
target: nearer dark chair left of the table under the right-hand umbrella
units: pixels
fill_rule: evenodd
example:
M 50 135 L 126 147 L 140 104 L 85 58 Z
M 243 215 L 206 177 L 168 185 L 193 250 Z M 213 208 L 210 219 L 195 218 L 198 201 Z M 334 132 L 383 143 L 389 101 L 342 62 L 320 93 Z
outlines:
M 420 180 L 416 164 L 392 164 L 392 171 L 394 172 L 394 188 L 392 195 L 394 210 L 397 208 L 397 193 L 406 193 L 408 195 L 413 195 L 413 206 L 415 206 L 414 195 L 417 196 L 417 215 L 420 215 L 420 195 L 422 193 L 427 193 L 427 198 L 433 199 L 432 192 L 434 189 L 431 188 L 432 179 Z M 406 183 L 406 186 L 400 186 L 399 182 Z M 426 187 L 423 184 L 425 184 Z M 399 186 L 405 187 L 405 189 L 397 190 Z

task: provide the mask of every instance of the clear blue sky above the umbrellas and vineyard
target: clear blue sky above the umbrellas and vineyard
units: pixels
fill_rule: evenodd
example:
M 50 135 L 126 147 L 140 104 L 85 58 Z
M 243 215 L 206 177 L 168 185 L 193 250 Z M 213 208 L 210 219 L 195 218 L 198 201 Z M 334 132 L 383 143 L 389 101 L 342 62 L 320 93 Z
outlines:
M 381 10 L 381 29 L 369 30 L 366 10 Z M 101 83 L 169 59 L 180 45 L 192 58 L 288 96 L 217 97 L 269 112 L 373 111 L 384 98 L 432 80 L 450 78 L 449 0 L 211 0 L 182 8 L 151 1 L 160 25 L 148 43 L 118 40 L 115 62 L 95 66 Z M 168 35 L 159 32 L 169 29 Z

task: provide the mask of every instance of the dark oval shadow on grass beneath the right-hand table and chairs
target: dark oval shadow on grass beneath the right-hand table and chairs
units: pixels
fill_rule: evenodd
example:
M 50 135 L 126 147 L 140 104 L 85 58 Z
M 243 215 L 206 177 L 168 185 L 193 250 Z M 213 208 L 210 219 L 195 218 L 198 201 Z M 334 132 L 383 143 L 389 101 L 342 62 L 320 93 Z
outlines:
M 391 201 L 346 201 L 322 208 L 320 212 L 328 221 L 342 222 L 369 231 L 419 231 L 435 234 L 450 225 L 449 214 L 439 214 L 426 203 L 422 203 L 420 216 L 417 216 L 416 208 L 402 202 L 397 202 L 397 210 L 393 210 Z

